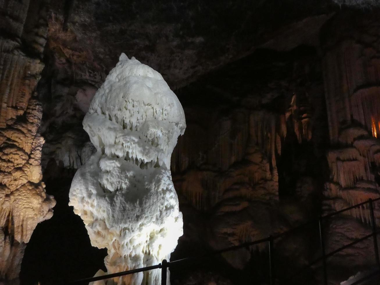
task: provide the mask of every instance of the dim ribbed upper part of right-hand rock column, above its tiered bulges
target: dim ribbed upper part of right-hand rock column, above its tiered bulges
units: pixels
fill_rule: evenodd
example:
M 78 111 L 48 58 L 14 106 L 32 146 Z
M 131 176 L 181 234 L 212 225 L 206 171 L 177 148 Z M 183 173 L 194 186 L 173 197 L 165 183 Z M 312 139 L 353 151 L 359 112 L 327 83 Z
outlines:
M 378 9 L 340 13 L 321 31 L 323 74 L 331 142 L 355 121 L 379 133 L 380 43 Z M 337 28 L 339 27 L 339 28 Z

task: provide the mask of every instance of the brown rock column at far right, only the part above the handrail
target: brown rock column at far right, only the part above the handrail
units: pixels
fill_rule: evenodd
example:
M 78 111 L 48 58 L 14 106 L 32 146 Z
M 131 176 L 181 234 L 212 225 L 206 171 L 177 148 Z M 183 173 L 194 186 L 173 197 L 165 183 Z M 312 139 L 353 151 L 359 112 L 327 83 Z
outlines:
M 327 155 L 332 209 L 380 196 L 374 169 L 380 150 L 379 15 L 341 13 L 325 27 L 326 106 L 330 139 L 338 147 Z M 368 210 L 357 211 L 352 214 L 368 221 Z

